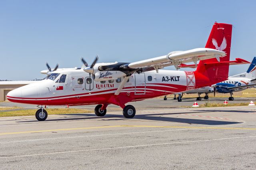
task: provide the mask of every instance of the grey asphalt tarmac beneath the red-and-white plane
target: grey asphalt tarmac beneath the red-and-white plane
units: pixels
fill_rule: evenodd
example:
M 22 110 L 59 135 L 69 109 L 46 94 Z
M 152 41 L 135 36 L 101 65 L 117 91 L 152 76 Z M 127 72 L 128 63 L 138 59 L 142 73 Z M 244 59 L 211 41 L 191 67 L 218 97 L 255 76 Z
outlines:
M 1 117 L 0 169 L 256 169 L 256 106 L 174 103 L 132 103 L 133 119 L 119 110 Z

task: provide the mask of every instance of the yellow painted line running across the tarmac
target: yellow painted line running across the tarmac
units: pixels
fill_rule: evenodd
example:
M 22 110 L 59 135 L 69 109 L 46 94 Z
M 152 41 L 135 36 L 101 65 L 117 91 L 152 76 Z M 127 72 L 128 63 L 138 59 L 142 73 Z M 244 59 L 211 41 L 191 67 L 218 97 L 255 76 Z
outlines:
M 37 133 L 37 132 L 52 132 L 52 131 L 65 131 L 65 130 L 81 130 L 81 129 L 96 129 L 96 128 L 115 128 L 115 127 L 152 127 L 152 128 L 195 128 L 195 129 L 232 129 L 232 130 L 256 130 L 256 128 L 237 128 L 237 127 L 184 127 L 184 126 L 147 126 L 147 125 L 117 125 L 117 126 L 102 126 L 102 127 L 83 127 L 83 128 L 62 128 L 50 130 L 34 130 L 24 132 L 6 132 L 4 134 L 23 134 L 23 133 Z

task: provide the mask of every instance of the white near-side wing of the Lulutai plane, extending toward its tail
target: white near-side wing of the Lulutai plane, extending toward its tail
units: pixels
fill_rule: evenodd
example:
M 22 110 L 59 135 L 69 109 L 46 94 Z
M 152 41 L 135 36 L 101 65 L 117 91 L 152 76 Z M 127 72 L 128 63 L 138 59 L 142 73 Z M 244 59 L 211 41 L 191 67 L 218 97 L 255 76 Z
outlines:
M 128 68 L 133 69 L 146 69 L 146 68 L 154 68 L 156 71 L 166 66 L 174 65 L 176 69 L 178 69 L 179 65 L 182 63 L 189 63 L 204 59 L 210 59 L 216 57 L 219 60 L 219 57 L 226 56 L 226 53 L 211 49 L 211 48 L 196 48 L 190 49 L 187 51 L 173 51 L 168 53 L 167 55 L 155 57 L 151 59 L 145 59 L 142 61 L 136 61 L 128 64 Z

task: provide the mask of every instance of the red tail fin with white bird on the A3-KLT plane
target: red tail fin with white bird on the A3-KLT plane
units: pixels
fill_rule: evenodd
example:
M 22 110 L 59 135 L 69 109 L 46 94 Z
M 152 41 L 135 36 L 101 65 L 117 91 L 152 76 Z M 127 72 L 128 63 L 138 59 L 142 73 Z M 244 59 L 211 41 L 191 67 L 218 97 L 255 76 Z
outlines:
M 232 25 L 214 23 L 205 47 L 226 52 L 226 56 L 220 57 L 220 61 L 229 61 L 231 36 Z M 218 62 L 216 58 L 201 60 L 195 73 L 205 76 L 212 84 L 226 80 L 228 78 L 229 64 L 216 62 Z

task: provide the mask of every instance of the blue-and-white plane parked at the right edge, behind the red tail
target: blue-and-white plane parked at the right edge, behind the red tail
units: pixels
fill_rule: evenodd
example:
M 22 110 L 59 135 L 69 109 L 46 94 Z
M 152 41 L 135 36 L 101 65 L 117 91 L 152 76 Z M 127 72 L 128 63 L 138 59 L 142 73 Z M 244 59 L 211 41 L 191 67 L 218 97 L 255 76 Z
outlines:
M 230 93 L 228 100 L 234 100 L 233 92 L 242 91 L 256 86 L 256 57 L 253 58 L 245 73 L 228 77 L 228 80 L 212 85 L 214 92 Z

